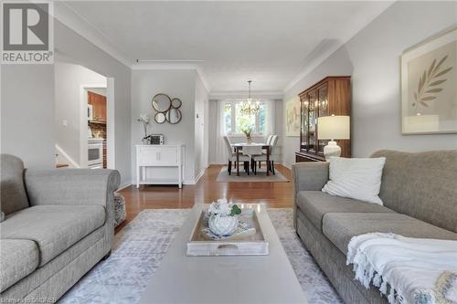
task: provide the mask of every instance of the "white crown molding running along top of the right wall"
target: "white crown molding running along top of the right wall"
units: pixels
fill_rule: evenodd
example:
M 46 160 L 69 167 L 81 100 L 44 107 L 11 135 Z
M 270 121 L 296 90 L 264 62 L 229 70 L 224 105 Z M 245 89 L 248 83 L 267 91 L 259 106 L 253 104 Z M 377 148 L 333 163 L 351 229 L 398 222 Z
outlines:
M 347 37 L 344 37 L 343 39 L 339 40 L 335 45 L 329 47 L 326 51 L 321 53 L 322 55 L 317 56 L 316 58 L 311 59 L 309 62 L 307 62 L 304 65 L 302 71 L 300 71 L 297 74 L 297 76 L 295 76 L 291 80 L 291 82 L 289 82 L 289 84 L 283 89 L 283 93 L 287 92 L 289 89 L 292 89 L 292 87 L 294 85 L 296 85 L 301 79 L 303 79 L 304 77 L 306 77 L 306 75 L 311 73 L 314 70 L 314 68 L 317 68 L 320 64 L 322 64 L 325 61 L 325 59 L 331 57 L 340 47 L 343 47 L 349 40 L 351 40 L 353 37 L 356 37 L 356 35 L 358 33 L 360 33 L 365 27 L 367 27 L 370 23 L 372 23 L 378 16 L 380 16 L 382 13 L 384 13 L 388 9 L 388 7 L 390 7 L 395 2 L 397 2 L 397 0 L 391 0 L 388 2 L 390 2 L 390 4 L 387 5 L 386 8 L 384 8 L 381 12 L 379 12 L 379 14 L 369 18 L 367 20 L 367 22 L 365 22 L 365 24 L 363 24 L 363 26 L 361 26 L 360 29 L 358 29 L 354 34 L 347 35 Z M 313 53 L 314 52 L 312 52 L 312 54 L 310 54 L 310 57 L 312 57 Z

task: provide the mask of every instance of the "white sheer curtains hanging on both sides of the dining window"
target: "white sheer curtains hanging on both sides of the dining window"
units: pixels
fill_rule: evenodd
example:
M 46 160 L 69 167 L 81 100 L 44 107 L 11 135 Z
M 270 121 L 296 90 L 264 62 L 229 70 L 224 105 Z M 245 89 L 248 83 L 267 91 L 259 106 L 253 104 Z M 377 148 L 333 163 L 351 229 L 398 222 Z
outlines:
M 227 163 L 228 162 L 228 152 L 226 143 L 224 142 L 224 136 L 227 135 L 225 119 L 224 119 L 224 107 L 228 101 L 233 100 L 218 100 L 217 105 L 217 125 L 216 127 L 216 163 Z M 241 100 L 239 100 L 241 101 Z M 263 141 L 267 138 L 268 135 L 274 134 L 274 125 L 275 125 L 275 102 L 274 100 L 261 100 L 266 107 L 266 117 L 265 117 L 265 131 L 263 131 Z M 235 126 L 232 126 L 234 128 Z M 240 138 L 244 136 L 232 136 L 232 142 L 239 142 Z M 254 138 L 258 142 L 258 138 Z

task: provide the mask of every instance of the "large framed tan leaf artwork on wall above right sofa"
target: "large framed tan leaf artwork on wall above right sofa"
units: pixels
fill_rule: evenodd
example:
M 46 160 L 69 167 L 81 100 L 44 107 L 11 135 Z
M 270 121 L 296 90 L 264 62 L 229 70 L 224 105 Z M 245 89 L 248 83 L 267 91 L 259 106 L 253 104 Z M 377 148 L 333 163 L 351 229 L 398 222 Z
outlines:
M 457 28 L 401 55 L 401 129 L 457 133 Z

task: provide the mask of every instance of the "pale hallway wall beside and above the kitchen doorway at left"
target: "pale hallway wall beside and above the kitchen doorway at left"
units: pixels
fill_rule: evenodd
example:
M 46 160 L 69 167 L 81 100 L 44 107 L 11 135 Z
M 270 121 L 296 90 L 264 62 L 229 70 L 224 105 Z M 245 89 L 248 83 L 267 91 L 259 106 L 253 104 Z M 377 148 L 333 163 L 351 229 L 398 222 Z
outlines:
M 56 62 L 54 68 L 56 143 L 74 162 L 84 166 L 86 163 L 82 162 L 80 151 L 81 138 L 87 138 L 87 126 L 81 130 L 81 87 L 90 84 L 106 87 L 106 78 L 89 68 L 71 63 Z M 63 121 L 67 121 L 67 126 Z M 81 132 L 86 136 L 81 136 Z

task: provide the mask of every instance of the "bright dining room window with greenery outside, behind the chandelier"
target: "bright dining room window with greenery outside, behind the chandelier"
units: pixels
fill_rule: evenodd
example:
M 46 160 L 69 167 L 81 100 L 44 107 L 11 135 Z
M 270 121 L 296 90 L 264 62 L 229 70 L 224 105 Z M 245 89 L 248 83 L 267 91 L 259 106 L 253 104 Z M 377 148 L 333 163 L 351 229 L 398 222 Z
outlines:
M 245 129 L 252 130 L 255 134 L 266 131 L 267 107 L 260 103 L 260 111 L 256 115 L 241 113 L 241 102 L 231 101 L 224 104 L 224 126 L 227 134 L 239 134 Z

